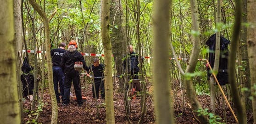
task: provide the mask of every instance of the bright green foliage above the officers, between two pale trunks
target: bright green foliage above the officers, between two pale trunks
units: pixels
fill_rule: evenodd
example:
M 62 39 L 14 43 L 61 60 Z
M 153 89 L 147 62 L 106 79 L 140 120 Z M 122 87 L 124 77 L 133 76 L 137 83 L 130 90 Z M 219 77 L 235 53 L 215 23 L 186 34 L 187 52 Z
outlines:
M 51 42 L 55 46 L 59 42 L 70 40 L 71 37 L 82 41 L 84 28 L 90 34 L 86 39 L 89 45 L 99 46 L 95 39 L 100 32 L 100 1 L 99 0 L 82 0 L 82 11 L 78 1 L 73 0 L 47 0 L 45 13 L 50 17 L 54 10 L 57 9 L 55 16 L 50 21 Z M 39 24 L 42 24 L 41 22 Z M 72 36 L 70 36 L 72 34 Z M 57 37 L 61 37 L 57 38 Z M 65 37 L 65 39 L 62 39 Z M 62 41 L 59 41 L 62 40 Z M 84 44 L 80 44 L 84 46 Z M 79 46 L 80 46 L 79 45 Z

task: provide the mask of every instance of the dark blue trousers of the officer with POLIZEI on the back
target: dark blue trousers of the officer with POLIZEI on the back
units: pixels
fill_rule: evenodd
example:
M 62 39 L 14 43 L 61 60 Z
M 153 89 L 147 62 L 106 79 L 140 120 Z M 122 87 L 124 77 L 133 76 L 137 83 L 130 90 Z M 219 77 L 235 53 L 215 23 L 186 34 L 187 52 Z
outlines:
M 61 67 L 52 67 L 53 71 L 53 86 L 54 86 L 54 91 L 56 95 L 56 99 L 59 102 L 60 101 L 60 96 L 61 99 L 63 100 L 64 96 L 64 81 L 65 81 L 65 75 L 61 70 Z M 60 92 L 58 90 L 58 86 L 60 86 Z

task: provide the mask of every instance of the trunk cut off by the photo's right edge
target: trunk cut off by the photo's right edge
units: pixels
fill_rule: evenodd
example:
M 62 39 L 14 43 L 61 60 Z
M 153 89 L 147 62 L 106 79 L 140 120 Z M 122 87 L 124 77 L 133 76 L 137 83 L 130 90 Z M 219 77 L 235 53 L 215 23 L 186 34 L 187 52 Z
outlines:
M 251 83 L 251 94 L 252 94 L 252 109 L 253 109 L 253 120 L 256 124 L 256 1 L 248 0 L 248 22 L 251 24 L 247 31 L 247 47 L 250 67 L 250 83 Z

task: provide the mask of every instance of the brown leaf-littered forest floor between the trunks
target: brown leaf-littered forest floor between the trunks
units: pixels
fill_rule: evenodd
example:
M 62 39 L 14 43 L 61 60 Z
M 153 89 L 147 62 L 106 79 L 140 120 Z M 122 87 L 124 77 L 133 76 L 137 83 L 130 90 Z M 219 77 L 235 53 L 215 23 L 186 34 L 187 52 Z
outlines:
M 82 92 L 83 96 L 86 96 L 87 100 L 83 103 L 82 106 L 78 107 L 77 102 L 71 97 L 70 104 L 68 106 L 62 106 L 61 103 L 58 103 L 58 124 L 106 124 L 106 110 L 103 100 L 98 101 L 99 114 L 100 117 L 96 118 L 97 107 L 96 101 L 92 97 L 91 93 L 91 84 L 88 84 L 88 90 Z M 74 94 L 73 88 L 71 89 Z M 50 94 L 48 89 L 45 90 L 43 95 L 43 109 L 40 112 L 39 124 L 50 124 L 51 120 L 51 101 Z M 126 118 L 126 112 L 123 101 L 123 93 L 117 92 L 114 90 L 114 111 L 115 111 L 115 123 L 116 124 L 128 124 Z M 206 95 L 198 96 L 200 103 L 203 108 L 208 108 L 210 106 L 210 97 Z M 150 95 L 147 96 L 147 112 L 144 117 L 144 122 L 142 124 L 155 124 L 155 114 L 154 114 L 154 103 L 152 103 L 152 98 Z M 188 100 L 182 99 L 180 92 L 178 92 L 174 97 L 173 102 L 173 112 L 174 120 L 176 124 L 198 124 L 195 120 L 192 110 L 189 108 Z M 183 102 L 184 101 L 184 102 Z M 161 102 L 161 101 L 159 101 Z M 184 107 L 182 107 L 184 106 Z M 23 100 L 23 109 L 24 109 L 24 124 L 32 123 L 36 115 L 28 114 L 30 108 L 29 99 Z M 235 119 L 229 111 L 228 106 L 226 108 L 227 123 L 226 124 L 236 124 Z M 137 124 L 140 118 L 140 97 L 137 96 L 136 99 L 131 100 L 131 110 L 130 110 L 130 119 L 133 124 Z M 163 113 L 164 114 L 164 113 Z M 223 119 L 223 107 L 216 107 L 216 114 Z M 251 113 L 247 114 L 247 119 L 250 118 Z M 223 120 L 220 120 L 223 122 Z M 248 124 L 252 124 L 252 120 L 248 121 Z

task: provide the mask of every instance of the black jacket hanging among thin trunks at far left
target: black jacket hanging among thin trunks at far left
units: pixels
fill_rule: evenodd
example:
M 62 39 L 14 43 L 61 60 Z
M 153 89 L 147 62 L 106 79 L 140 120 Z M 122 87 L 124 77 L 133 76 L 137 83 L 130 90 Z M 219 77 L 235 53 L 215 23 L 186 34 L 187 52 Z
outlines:
M 33 67 L 31 67 L 28 64 L 27 57 L 24 58 L 23 64 L 22 64 L 22 75 L 21 75 L 21 81 L 22 81 L 22 93 L 23 96 L 28 96 L 33 94 L 33 88 L 34 88 L 34 76 L 31 72 Z

